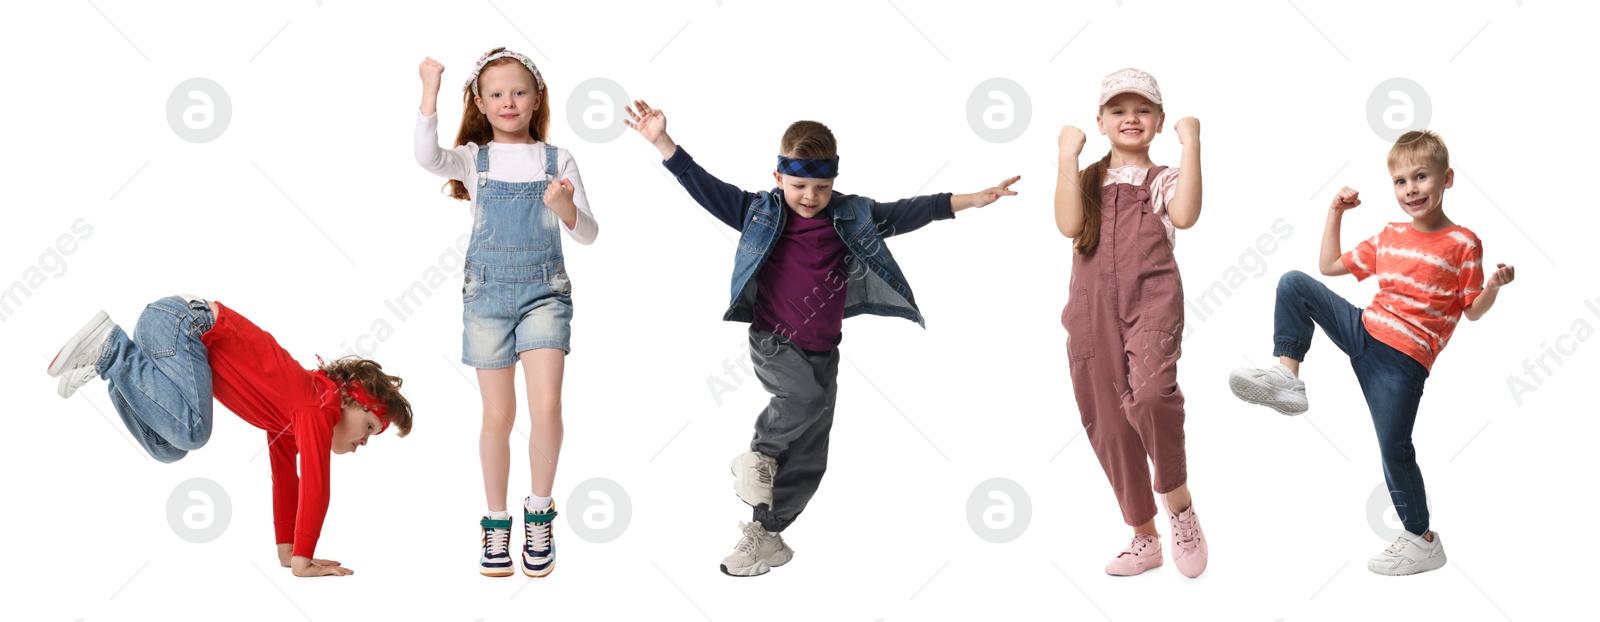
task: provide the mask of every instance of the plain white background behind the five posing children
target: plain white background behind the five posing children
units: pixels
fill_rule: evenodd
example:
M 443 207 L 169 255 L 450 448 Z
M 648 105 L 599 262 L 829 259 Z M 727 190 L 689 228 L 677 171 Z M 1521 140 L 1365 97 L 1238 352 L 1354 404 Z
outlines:
M 258 2 L 32 3 L 0 26 L 11 74 L 0 112 L 11 200 L 0 286 L 27 296 L 0 321 L 11 400 L 3 453 L 5 617 L 427 620 L 507 619 L 1165 619 L 1541 620 L 1594 579 L 1586 516 L 1597 432 L 1600 285 L 1589 185 L 1595 11 L 1557 2 Z M 1211 5 L 1211 3 L 1205 3 Z M 416 66 L 445 67 L 442 141 L 458 85 L 485 50 L 534 58 L 552 88 L 552 142 L 570 149 L 600 221 L 566 243 L 576 320 L 566 445 L 557 480 L 560 563 L 542 580 L 475 572 L 483 512 L 478 398 L 459 365 L 459 269 L 408 320 L 384 305 L 450 256 L 467 208 L 416 166 Z M 1088 128 L 1102 75 L 1152 72 L 1168 130 L 1202 120 L 1205 211 L 1181 232 L 1190 297 L 1243 265 L 1208 317 L 1190 307 L 1181 384 L 1189 473 L 1211 542 L 1197 580 L 1174 568 L 1102 574 L 1130 536 L 1082 438 L 1059 325 L 1070 245 L 1051 217 L 1056 134 Z M 166 101 L 187 78 L 232 101 L 222 134 L 178 138 Z M 787 540 L 795 560 L 730 579 L 718 560 L 749 510 L 726 461 L 766 400 L 754 381 L 707 389 L 731 361 L 749 377 L 744 325 L 723 323 L 736 233 L 707 217 L 632 131 L 584 141 L 571 107 L 603 77 L 670 118 L 712 173 L 771 185 L 784 126 L 821 120 L 840 141 L 842 192 L 891 200 L 974 192 L 1021 174 L 1021 195 L 891 240 L 928 318 L 845 325 L 830 475 Z M 1021 138 L 992 144 L 966 120 L 973 88 L 1018 82 Z M 1238 403 L 1227 369 L 1270 360 L 1272 291 L 1315 272 L 1339 185 L 1363 192 L 1344 246 L 1403 219 L 1387 190 L 1368 96 L 1416 82 L 1453 155 L 1446 211 L 1518 267 L 1482 321 L 1464 321 L 1418 417 L 1434 526 L 1450 564 L 1414 577 L 1363 566 L 1387 508 L 1370 417 L 1342 355 L 1317 337 L 1312 411 Z M 1016 118 L 1022 123 L 1022 118 Z M 446 142 L 448 146 L 448 142 Z M 1178 165 L 1168 131 L 1152 158 Z M 61 233 L 93 227 L 74 253 Z M 1277 219 L 1275 253 L 1248 251 Z M 58 251 L 59 253 L 59 251 Z M 43 273 L 27 285 L 29 269 Z M 1365 305 L 1371 283 L 1325 278 Z M 304 365 L 355 344 L 405 377 L 410 438 L 338 457 L 318 556 L 357 572 L 277 568 L 262 432 L 218 409 L 211 443 L 163 465 L 122 427 L 104 382 L 62 401 L 43 368 L 96 309 L 131 323 L 192 291 L 237 307 Z M 374 325 L 387 321 L 382 341 Z M 1581 323 L 1581 325 L 1579 325 Z M 1568 336 L 1562 339 L 1563 336 Z M 1560 341 L 1558 341 L 1560 339 Z M 1562 344 L 1562 363 L 1538 358 Z M 1525 371 L 1530 360 L 1539 377 Z M 1510 379 L 1536 387 L 1518 397 Z M 525 409 L 523 409 L 525 411 Z M 526 430 L 526 414 L 518 424 Z M 528 484 L 514 435 L 512 499 Z M 210 544 L 178 537 L 168 497 L 189 478 L 227 491 Z M 1006 478 L 1032 512 L 1008 544 L 978 537 L 968 497 Z M 606 544 L 581 481 L 622 486 L 630 521 Z M 602 507 L 603 510 L 603 507 Z M 597 510 L 598 512 L 598 510 Z M 613 528 L 621 516 L 613 515 Z M 1024 520 L 1021 515 L 1013 520 Z M 1574 523 L 1576 521 L 1576 523 Z M 1165 521 L 1160 524 L 1166 532 Z M 520 540 L 520 537 L 518 537 Z M 1565 617 L 1565 616 L 1563 616 Z

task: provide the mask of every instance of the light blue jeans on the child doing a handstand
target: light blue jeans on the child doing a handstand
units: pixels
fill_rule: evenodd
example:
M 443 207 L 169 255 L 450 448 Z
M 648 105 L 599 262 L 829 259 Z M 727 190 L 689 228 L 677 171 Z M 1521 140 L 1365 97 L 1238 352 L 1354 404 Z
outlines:
M 94 366 L 128 432 L 160 462 L 178 462 L 211 440 L 211 363 L 200 336 L 213 321 L 203 301 L 150 302 L 133 339 L 122 326 L 110 329 Z

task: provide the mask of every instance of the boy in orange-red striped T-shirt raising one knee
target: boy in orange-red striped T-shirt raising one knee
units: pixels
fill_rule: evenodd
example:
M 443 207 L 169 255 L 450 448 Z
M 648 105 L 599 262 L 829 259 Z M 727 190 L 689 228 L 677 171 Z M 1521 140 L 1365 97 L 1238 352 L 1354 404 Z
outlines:
M 1390 222 L 1355 249 L 1339 254 L 1344 211 L 1362 205 L 1344 187 L 1328 208 L 1322 237 L 1322 273 L 1378 277 L 1378 294 L 1365 309 L 1346 302 L 1304 272 L 1278 281 L 1274 350 L 1278 365 L 1234 369 L 1227 384 L 1253 405 L 1283 414 L 1306 413 L 1299 363 L 1310 349 L 1312 321 L 1350 355 L 1355 379 L 1378 429 L 1389 497 L 1406 532 L 1366 561 L 1378 574 L 1416 574 L 1445 564 L 1445 544 L 1427 528 L 1427 492 L 1416 465 L 1411 427 L 1422 384 L 1456 321 L 1477 320 L 1494 305 L 1499 288 L 1515 278 L 1510 265 L 1483 280 L 1483 243 L 1445 216 L 1445 189 L 1454 182 L 1445 141 L 1432 131 L 1408 131 L 1389 150 L 1395 200 L 1411 222 Z

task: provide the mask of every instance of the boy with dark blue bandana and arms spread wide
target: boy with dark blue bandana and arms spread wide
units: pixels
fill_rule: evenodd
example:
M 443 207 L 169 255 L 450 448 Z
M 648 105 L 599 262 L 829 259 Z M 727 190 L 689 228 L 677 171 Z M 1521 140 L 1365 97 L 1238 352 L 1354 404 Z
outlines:
M 795 122 L 779 146 L 778 187 L 744 192 L 694 163 L 667 136 L 661 110 L 634 101 L 627 115 L 627 126 L 661 152 L 690 197 L 739 230 L 723 320 L 750 323 L 750 361 L 773 398 L 755 419 L 749 451 L 733 459 L 733 489 L 754 508 L 754 518 L 739 523 L 744 537 L 722 560 L 722 571 L 766 574 L 794 556 L 781 532 L 805 510 L 827 470 L 840 325 L 861 313 L 923 325 L 883 238 L 1016 195 L 1010 185 L 1021 177 L 968 195 L 890 203 L 835 193 L 834 133 L 818 122 Z

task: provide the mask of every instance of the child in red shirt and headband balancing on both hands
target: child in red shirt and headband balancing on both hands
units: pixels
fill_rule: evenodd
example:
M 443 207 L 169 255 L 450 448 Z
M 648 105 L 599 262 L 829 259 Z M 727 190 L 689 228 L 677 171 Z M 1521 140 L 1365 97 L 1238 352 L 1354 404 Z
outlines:
M 328 513 L 328 454 L 355 453 L 389 425 L 411 432 L 400 379 L 378 363 L 346 357 L 307 371 L 243 315 L 194 296 L 152 302 L 133 336 L 96 313 L 48 373 L 61 377 L 62 398 L 104 377 L 128 432 L 160 462 L 211 438 L 213 397 L 266 430 L 278 563 L 298 577 L 352 574 L 314 556 Z

